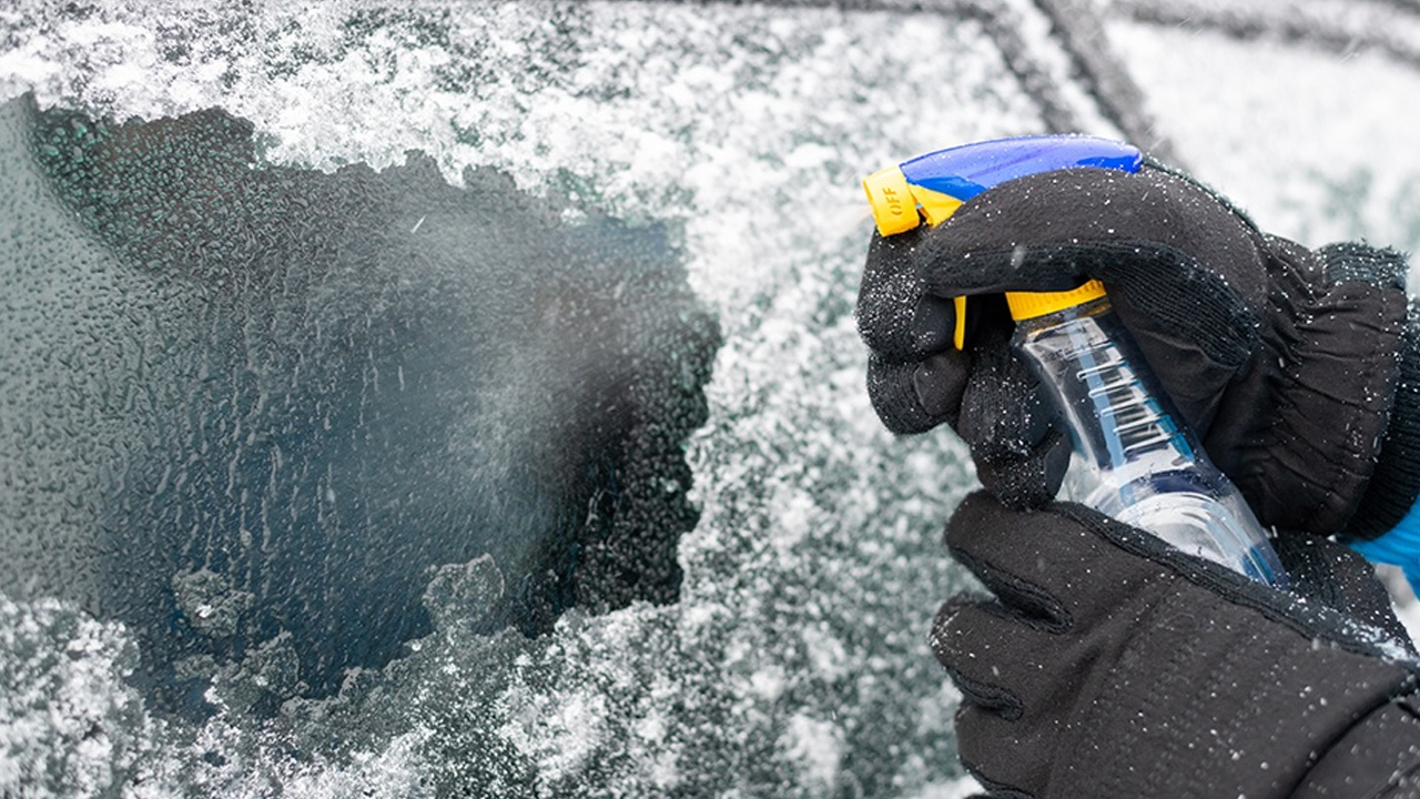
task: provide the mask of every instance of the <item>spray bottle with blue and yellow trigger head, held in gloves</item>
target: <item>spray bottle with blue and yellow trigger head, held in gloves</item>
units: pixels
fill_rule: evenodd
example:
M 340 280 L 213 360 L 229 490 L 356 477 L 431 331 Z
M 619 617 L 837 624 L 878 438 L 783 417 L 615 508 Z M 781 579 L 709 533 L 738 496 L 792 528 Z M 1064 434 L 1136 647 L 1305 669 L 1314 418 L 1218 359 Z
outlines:
M 1140 152 L 1089 136 L 1025 136 L 933 152 L 863 181 L 883 236 L 939 225 L 1007 181 L 1081 166 L 1136 172 Z M 1287 584 L 1267 533 L 1149 370 L 1105 286 L 1008 291 L 1012 345 L 1031 364 L 1074 442 L 1065 496 L 1254 580 Z M 957 348 L 966 297 L 957 297 Z

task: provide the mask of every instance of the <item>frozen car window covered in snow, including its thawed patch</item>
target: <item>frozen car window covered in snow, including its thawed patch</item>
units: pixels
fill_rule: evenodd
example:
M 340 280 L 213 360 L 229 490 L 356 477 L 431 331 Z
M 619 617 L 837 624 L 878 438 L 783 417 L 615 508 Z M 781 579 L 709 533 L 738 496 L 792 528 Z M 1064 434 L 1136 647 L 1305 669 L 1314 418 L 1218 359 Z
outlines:
M 1066 6 L 0 11 L 0 793 L 967 795 L 862 175 L 1078 129 L 1420 230 L 1198 94 L 1221 11 Z

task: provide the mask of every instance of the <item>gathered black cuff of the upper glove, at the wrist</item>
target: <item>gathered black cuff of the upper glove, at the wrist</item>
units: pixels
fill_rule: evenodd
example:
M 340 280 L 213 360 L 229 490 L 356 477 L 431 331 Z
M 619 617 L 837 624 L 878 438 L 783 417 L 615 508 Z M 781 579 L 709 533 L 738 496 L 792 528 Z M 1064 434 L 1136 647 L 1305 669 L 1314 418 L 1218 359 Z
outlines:
M 1264 523 L 1321 536 L 1358 523 L 1379 535 L 1420 486 L 1420 475 L 1402 471 L 1414 458 L 1400 452 L 1416 415 L 1406 407 L 1416 398 L 1400 398 L 1416 348 L 1404 256 L 1363 243 L 1264 245 L 1272 290 L 1262 347 L 1224 395 L 1204 446 Z M 1387 476 L 1373 486 L 1387 444 Z M 1363 505 L 1372 509 L 1360 513 Z

